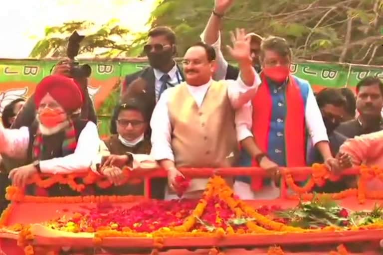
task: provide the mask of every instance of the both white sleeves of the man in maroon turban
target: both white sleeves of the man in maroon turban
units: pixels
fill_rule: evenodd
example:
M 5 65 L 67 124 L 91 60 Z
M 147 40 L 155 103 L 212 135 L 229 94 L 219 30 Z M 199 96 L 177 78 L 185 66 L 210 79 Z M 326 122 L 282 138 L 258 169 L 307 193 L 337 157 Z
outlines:
M 28 144 L 29 130 L 27 127 L 5 129 L 0 125 L 0 152 L 12 158 L 26 158 Z M 97 127 L 94 123 L 88 122 L 78 137 L 74 152 L 64 157 L 41 160 L 41 172 L 67 174 L 86 171 L 97 155 L 99 145 Z

